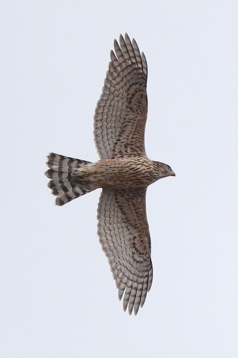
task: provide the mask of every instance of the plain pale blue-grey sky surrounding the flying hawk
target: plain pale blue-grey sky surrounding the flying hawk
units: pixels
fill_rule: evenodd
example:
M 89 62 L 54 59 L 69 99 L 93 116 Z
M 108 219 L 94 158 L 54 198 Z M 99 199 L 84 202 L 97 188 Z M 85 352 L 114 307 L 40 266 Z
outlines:
M 12 357 L 237 357 L 237 1 L 3 1 L 1 339 Z M 135 317 L 96 234 L 100 190 L 64 207 L 55 153 L 97 161 L 93 114 L 113 39 L 149 67 L 154 280 Z

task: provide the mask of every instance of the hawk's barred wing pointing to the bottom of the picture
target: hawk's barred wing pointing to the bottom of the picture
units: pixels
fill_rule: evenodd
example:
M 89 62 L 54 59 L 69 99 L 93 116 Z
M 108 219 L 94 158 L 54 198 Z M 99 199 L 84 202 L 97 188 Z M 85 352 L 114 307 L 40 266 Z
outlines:
M 99 242 L 118 288 L 123 309 L 137 314 L 152 284 L 146 189 L 103 189 L 98 203 Z

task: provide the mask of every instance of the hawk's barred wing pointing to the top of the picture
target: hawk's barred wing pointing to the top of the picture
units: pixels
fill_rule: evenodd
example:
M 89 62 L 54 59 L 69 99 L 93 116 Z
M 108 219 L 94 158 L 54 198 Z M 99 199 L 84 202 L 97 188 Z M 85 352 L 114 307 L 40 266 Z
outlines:
M 134 39 L 120 35 L 94 115 L 94 141 L 100 159 L 145 154 L 147 64 Z

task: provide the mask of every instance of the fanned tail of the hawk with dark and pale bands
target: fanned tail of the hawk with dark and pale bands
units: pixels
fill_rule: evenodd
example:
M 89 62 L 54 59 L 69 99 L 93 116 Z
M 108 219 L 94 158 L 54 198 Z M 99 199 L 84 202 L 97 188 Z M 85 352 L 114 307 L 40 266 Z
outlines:
M 51 193 L 57 196 L 55 205 L 62 206 L 96 189 L 91 183 L 81 182 L 80 177 L 73 174 L 76 169 L 91 164 L 90 161 L 69 158 L 55 153 L 49 153 L 47 159 L 46 164 L 50 169 L 45 172 L 45 175 L 51 179 L 48 188 L 52 189 Z

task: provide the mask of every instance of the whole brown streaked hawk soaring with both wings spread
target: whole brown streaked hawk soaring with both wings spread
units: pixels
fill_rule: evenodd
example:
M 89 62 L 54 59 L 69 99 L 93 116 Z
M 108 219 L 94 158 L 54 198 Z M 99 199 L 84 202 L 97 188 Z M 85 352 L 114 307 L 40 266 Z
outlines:
M 123 309 L 135 315 L 144 305 L 152 284 L 146 189 L 166 176 L 175 176 L 169 165 L 150 160 L 145 153 L 147 118 L 147 63 L 137 43 L 125 34 L 106 73 L 94 114 L 94 141 L 100 160 L 49 153 L 45 175 L 56 196 L 55 204 L 102 188 L 98 203 L 98 236 L 108 257 Z

